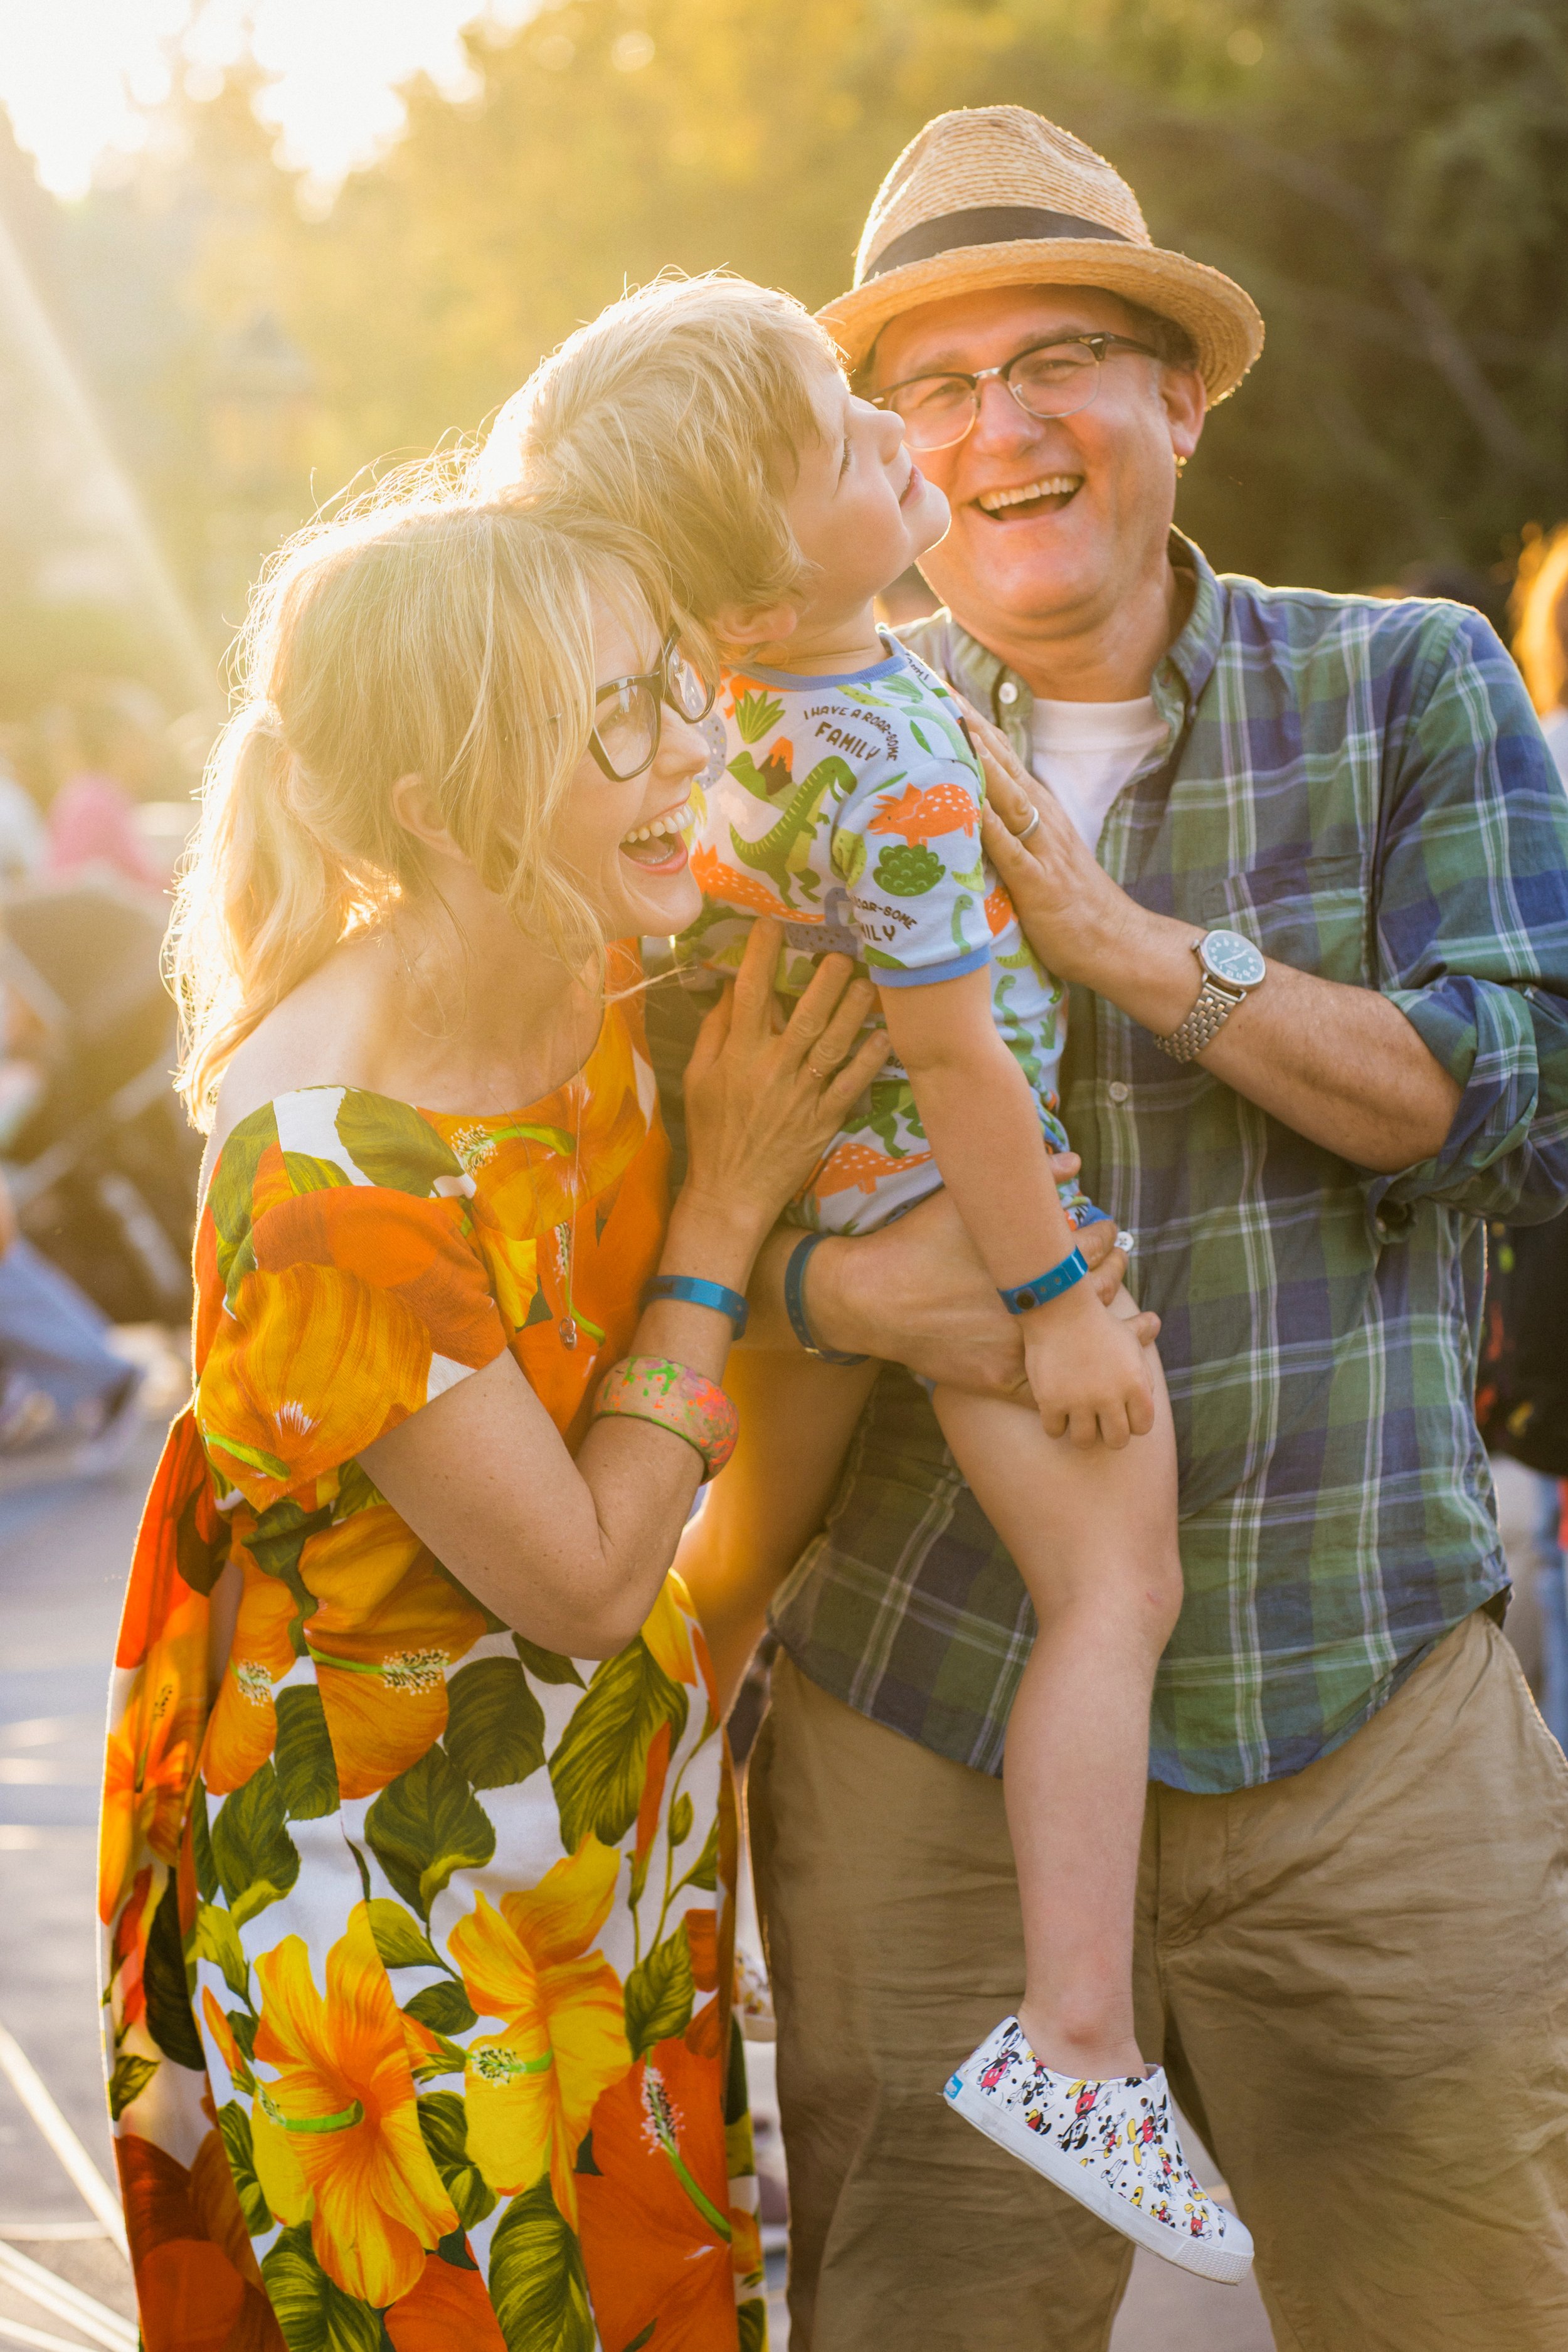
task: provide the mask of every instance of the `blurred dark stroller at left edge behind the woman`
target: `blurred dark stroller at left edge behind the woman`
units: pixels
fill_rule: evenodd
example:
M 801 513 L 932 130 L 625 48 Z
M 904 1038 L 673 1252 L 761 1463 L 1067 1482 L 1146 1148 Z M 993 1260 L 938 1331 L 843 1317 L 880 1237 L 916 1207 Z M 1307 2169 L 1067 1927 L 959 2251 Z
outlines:
M 0 1101 L 5 1181 L 26 1240 L 115 1324 L 190 1315 L 202 1143 L 172 1089 L 165 924 L 162 898 L 103 868 L 26 882 L 0 915 L 28 1033 L 12 1068 L 35 1073 L 31 1101 Z

